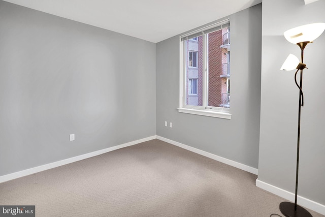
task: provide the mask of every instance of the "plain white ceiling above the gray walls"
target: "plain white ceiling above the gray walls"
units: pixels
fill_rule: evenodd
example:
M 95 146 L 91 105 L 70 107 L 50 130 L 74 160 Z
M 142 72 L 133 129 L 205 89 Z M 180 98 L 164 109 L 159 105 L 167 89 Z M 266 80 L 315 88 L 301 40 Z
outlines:
M 262 0 L 4 0 L 157 43 Z

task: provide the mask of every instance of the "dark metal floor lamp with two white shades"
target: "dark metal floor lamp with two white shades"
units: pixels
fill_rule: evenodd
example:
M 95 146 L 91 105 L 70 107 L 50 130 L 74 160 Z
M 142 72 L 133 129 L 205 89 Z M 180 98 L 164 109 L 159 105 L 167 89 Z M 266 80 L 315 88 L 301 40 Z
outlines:
M 284 37 L 287 41 L 297 44 L 301 49 L 301 60 L 298 57 L 289 54 L 284 61 L 281 70 L 294 70 L 295 82 L 299 88 L 299 110 L 298 110 L 298 141 L 297 141 L 297 166 L 296 166 L 296 191 L 295 191 L 295 203 L 282 202 L 280 203 L 279 209 L 287 217 L 309 217 L 312 216 L 305 208 L 297 205 L 297 192 L 298 192 L 298 172 L 299 172 L 299 146 L 300 146 L 300 114 L 301 107 L 304 106 L 304 94 L 302 90 L 303 86 L 303 70 L 306 68 L 304 64 L 304 49 L 307 44 L 312 43 L 317 39 L 324 31 L 325 23 L 312 23 L 308 25 L 298 26 L 291 28 L 284 32 Z M 307 69 L 307 68 L 306 68 Z M 300 71 L 300 82 L 297 82 L 297 74 Z

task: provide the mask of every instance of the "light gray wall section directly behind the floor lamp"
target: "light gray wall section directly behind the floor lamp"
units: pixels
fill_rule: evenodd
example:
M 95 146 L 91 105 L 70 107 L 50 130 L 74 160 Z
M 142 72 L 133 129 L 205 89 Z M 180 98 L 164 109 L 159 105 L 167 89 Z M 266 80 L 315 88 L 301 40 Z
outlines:
M 283 32 L 313 22 L 325 22 L 325 1 L 263 0 L 261 136 L 258 179 L 295 192 L 299 89 L 295 71 L 280 71 L 289 53 L 300 48 Z M 298 194 L 325 204 L 325 34 L 307 45 L 304 62 L 304 102 L 301 115 Z

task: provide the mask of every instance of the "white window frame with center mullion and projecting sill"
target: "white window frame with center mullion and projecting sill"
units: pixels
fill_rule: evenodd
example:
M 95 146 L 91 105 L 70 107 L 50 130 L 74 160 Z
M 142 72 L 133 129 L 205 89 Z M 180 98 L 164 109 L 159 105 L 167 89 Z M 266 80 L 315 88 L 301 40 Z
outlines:
M 196 30 L 194 32 L 191 32 L 189 34 L 180 36 L 180 99 L 179 99 L 179 108 L 178 111 L 182 112 L 182 113 L 189 113 L 189 114 L 196 114 L 196 115 L 204 115 L 204 116 L 211 116 L 211 117 L 219 117 L 219 118 L 225 118 L 225 119 L 231 119 L 231 112 L 230 112 L 230 108 L 226 108 L 226 107 L 212 107 L 212 106 L 208 106 L 208 43 L 207 39 L 208 39 L 208 34 L 211 32 L 215 32 L 216 30 L 222 29 L 224 28 L 223 26 L 230 26 L 230 21 L 228 20 L 224 20 L 218 23 L 215 23 L 213 25 L 209 25 L 205 28 Z M 215 29 L 218 28 L 215 31 L 211 29 Z M 207 31 L 207 33 L 204 33 L 205 31 Z M 187 61 L 185 60 L 186 55 L 185 53 L 186 51 L 186 46 L 185 46 L 185 42 L 186 40 L 191 40 L 191 38 L 194 37 L 198 37 L 198 35 L 195 36 L 195 34 L 200 34 L 203 33 L 202 36 L 203 37 L 203 53 L 204 53 L 204 58 L 203 58 L 203 66 L 204 66 L 204 72 L 203 73 L 203 105 L 202 106 L 194 106 L 194 105 L 186 105 L 186 83 L 188 82 L 188 78 L 186 79 L 186 64 Z M 193 36 L 194 37 L 191 37 Z M 185 39 L 184 39 L 185 38 Z M 189 51 L 188 51 L 189 52 Z M 194 51 L 195 52 L 195 51 Z M 189 55 L 189 54 L 188 54 Z M 198 54 L 197 54 L 198 57 Z M 197 61 L 197 65 L 198 65 L 198 61 Z M 191 68 L 190 66 L 188 66 L 189 68 Z M 199 84 L 198 84 L 199 85 Z

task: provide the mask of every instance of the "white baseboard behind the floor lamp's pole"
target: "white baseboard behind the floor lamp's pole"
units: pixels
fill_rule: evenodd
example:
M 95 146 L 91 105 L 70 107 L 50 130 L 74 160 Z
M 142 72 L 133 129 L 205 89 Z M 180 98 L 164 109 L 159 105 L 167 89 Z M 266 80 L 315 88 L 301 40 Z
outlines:
M 264 181 L 258 180 L 258 178 L 256 179 L 255 184 L 258 188 L 261 188 L 265 191 L 271 192 L 271 193 L 278 195 L 286 200 L 289 200 L 291 202 L 295 201 L 294 193 L 288 192 L 286 190 L 275 187 L 272 184 L 268 184 Z M 301 197 L 299 195 L 297 197 L 297 204 L 304 206 L 308 209 L 314 210 L 315 212 L 318 212 L 320 214 L 325 215 L 325 205 L 323 205 L 323 204 L 317 203 L 315 201 L 309 200 L 309 199 Z

